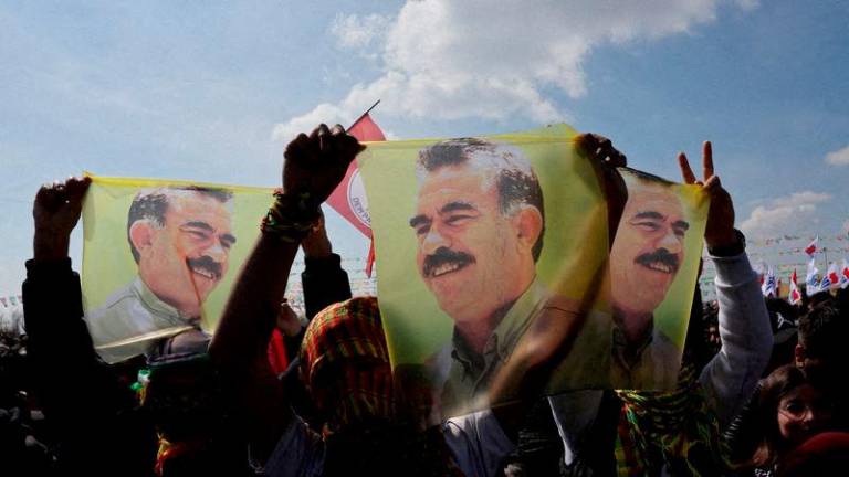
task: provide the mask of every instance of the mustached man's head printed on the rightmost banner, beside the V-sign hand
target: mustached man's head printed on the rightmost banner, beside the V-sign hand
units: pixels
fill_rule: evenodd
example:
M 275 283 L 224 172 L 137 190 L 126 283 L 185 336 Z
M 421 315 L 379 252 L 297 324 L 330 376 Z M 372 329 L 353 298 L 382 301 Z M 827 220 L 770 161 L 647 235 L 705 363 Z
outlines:
M 628 202 L 610 250 L 614 307 L 649 315 L 663 301 L 684 261 L 690 223 L 672 183 L 627 170 Z

